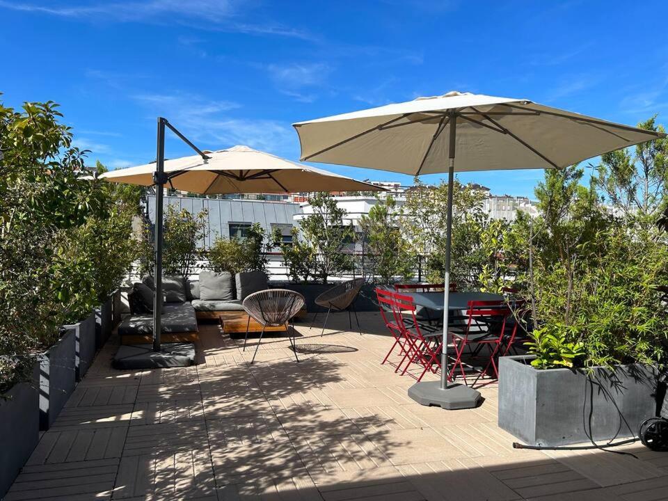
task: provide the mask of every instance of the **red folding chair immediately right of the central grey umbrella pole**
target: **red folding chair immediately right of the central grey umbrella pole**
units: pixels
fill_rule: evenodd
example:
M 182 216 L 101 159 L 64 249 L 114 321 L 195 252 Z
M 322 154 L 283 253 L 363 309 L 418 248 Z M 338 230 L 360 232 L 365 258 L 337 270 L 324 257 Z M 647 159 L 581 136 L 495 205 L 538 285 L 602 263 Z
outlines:
M 510 310 L 504 301 L 469 301 L 466 310 L 466 322 L 461 327 L 450 327 L 452 334 L 452 344 L 454 344 L 455 360 L 450 369 L 450 379 L 454 379 L 456 369 L 463 377 L 464 384 L 468 385 L 466 379 L 466 369 L 464 368 L 464 350 L 475 346 L 475 350 L 470 349 L 470 358 L 472 360 L 482 358 L 487 360 L 485 368 L 482 369 L 475 378 L 473 384 L 484 375 L 489 375 L 489 369 L 493 369 L 494 379 L 498 379 L 499 372 L 496 364 L 496 356 L 500 352 L 500 347 L 506 332 L 506 319 L 510 315 Z M 481 356 L 482 349 L 486 348 L 488 354 Z M 468 365 L 468 364 L 467 364 Z M 472 367 L 469 365 L 469 367 Z

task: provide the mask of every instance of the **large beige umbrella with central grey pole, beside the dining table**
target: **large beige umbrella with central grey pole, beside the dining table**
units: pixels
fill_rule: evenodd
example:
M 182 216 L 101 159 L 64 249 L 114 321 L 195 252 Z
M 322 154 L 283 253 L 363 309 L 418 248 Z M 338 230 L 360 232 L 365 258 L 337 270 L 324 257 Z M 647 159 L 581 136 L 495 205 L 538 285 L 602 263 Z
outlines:
M 294 127 L 302 161 L 410 175 L 448 173 L 446 284 L 450 282 L 454 172 L 564 168 L 664 136 L 525 99 L 456 91 L 298 122 Z M 447 287 L 444 302 L 446 347 Z M 448 383 L 446 351 L 444 348 L 440 382 L 415 383 L 408 395 L 423 405 L 449 409 L 475 406 L 479 392 Z

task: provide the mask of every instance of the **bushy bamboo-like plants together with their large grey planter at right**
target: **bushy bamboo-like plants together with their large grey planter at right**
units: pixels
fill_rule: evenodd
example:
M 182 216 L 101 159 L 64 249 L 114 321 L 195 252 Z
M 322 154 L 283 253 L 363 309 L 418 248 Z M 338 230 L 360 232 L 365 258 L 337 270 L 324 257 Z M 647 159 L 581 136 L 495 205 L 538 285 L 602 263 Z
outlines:
M 500 358 L 498 423 L 531 445 L 636 436 L 668 355 L 667 236 L 608 214 L 581 175 L 547 173 L 543 216 L 520 218 L 512 238 L 528 253 L 519 282 L 534 328 L 527 355 Z

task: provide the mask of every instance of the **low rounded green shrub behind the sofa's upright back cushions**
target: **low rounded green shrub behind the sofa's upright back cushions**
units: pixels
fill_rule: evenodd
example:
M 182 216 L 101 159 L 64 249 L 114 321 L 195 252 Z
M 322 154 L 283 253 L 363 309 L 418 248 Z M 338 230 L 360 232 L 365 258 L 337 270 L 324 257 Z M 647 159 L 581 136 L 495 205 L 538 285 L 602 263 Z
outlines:
M 217 237 L 209 250 L 209 263 L 214 271 L 262 271 L 267 273 L 266 234 L 260 223 L 253 223 L 242 239 Z

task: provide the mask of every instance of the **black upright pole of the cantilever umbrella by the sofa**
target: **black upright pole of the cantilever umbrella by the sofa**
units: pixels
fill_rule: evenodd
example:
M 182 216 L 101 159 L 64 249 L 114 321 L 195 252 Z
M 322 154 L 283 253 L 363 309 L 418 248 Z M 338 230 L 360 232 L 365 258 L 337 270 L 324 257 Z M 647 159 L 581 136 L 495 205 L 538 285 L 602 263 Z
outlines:
M 155 242 L 153 271 L 153 351 L 160 351 L 161 312 L 162 312 L 162 230 L 163 230 L 163 192 L 165 179 L 165 119 L 158 117 L 158 139 L 155 173 Z

